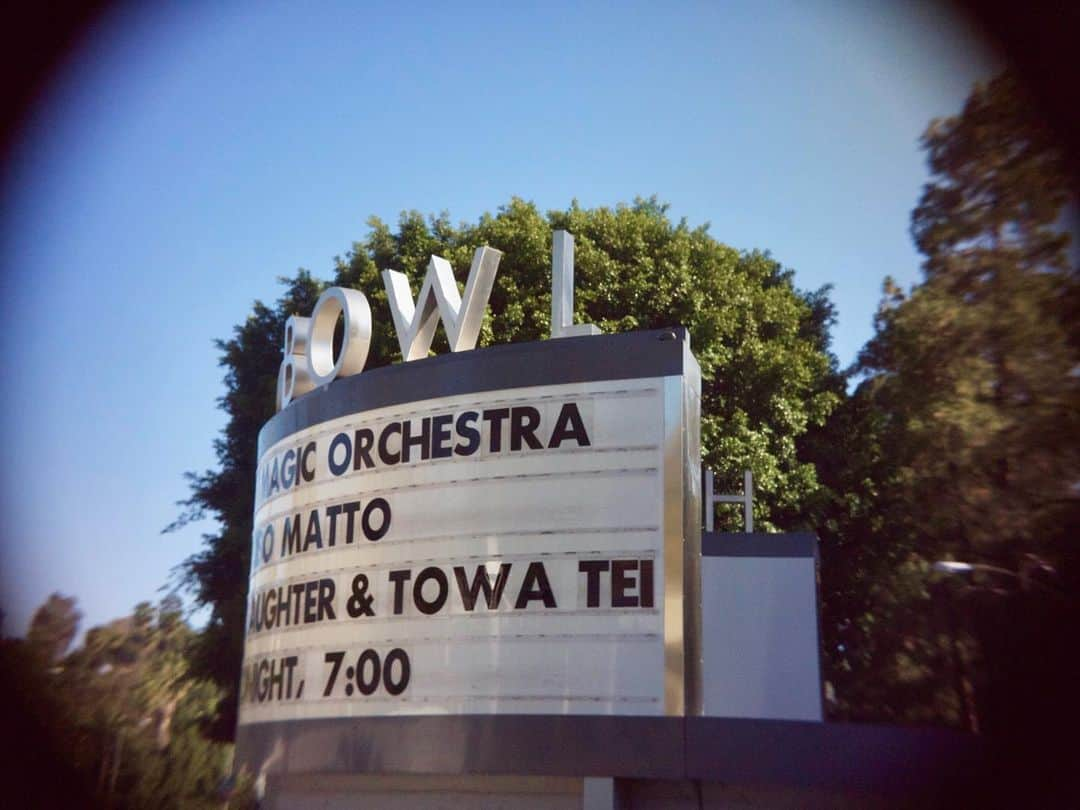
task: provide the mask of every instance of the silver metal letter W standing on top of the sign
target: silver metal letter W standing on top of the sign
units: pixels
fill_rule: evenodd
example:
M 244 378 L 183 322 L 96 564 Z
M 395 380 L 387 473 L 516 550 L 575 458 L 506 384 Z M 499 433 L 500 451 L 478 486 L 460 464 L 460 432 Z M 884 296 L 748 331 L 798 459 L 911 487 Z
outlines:
M 432 256 L 428 274 L 423 276 L 420 296 L 413 303 L 413 288 L 405 273 L 383 270 L 382 283 L 387 287 L 390 314 L 397 330 L 402 359 L 420 360 L 428 356 L 435 337 L 438 318 L 443 318 L 450 351 L 468 351 L 476 347 L 480 326 L 484 320 L 487 299 L 491 297 L 495 272 L 499 269 L 502 253 L 494 247 L 477 247 L 465 282 L 464 301 L 458 293 L 450 262 Z

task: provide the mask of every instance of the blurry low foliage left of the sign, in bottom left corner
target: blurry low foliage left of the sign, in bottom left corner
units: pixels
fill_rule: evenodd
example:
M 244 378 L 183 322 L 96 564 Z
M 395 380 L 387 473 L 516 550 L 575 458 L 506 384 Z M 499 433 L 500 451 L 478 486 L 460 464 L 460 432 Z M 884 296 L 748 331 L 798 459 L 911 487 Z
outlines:
M 48 615 L 70 626 L 75 599 L 54 594 L 36 625 Z M 131 616 L 92 629 L 70 653 L 43 654 L 56 649 L 43 646 L 56 637 L 42 640 L 31 630 L 26 642 L 0 639 L 0 672 L 10 680 L 3 684 L 5 720 L 21 746 L 14 762 L 5 757 L 9 799 L 18 806 L 221 807 L 227 746 L 204 733 L 220 693 L 192 675 L 197 634 L 180 600 L 139 604 Z M 48 762 L 54 781 L 43 783 L 29 757 Z

